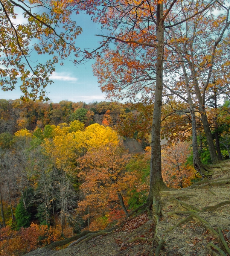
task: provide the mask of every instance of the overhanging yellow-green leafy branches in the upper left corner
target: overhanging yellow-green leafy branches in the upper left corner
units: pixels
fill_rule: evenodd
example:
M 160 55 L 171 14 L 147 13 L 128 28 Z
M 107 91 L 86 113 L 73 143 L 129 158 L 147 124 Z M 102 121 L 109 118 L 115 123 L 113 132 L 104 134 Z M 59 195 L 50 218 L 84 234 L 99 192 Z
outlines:
M 73 40 L 82 32 L 71 20 L 73 2 L 1 0 L 0 6 L 0 64 L 4 67 L 0 69 L 0 86 L 12 91 L 20 78 L 22 98 L 47 101 L 45 88 L 52 83 L 49 77 L 55 71 L 54 65 L 60 60 L 63 64 L 76 51 Z M 17 11 L 24 12 L 24 24 L 14 24 Z M 52 55 L 52 60 L 33 67 L 33 50 L 38 55 Z

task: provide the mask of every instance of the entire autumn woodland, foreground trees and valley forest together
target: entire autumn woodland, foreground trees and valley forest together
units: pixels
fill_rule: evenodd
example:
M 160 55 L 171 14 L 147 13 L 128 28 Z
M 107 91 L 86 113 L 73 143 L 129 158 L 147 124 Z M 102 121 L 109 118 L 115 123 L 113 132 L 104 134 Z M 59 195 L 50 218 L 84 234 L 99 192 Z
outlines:
M 0 5 L 0 86 L 3 91 L 20 86 L 22 94 L 0 99 L 0 255 L 63 249 L 75 238 L 75 244 L 88 242 L 144 210 L 154 232 L 126 241 L 151 241 L 151 250 L 141 255 L 159 256 L 168 248 L 158 226 L 169 212 L 163 207 L 176 207 L 170 200 L 186 210 L 168 216 L 187 217 L 165 233 L 198 219 L 198 227 L 202 223 L 215 236 L 207 245 L 211 253 L 230 255 L 224 233 L 229 227 L 219 224 L 227 220 L 211 227 L 212 219 L 199 215 L 230 204 L 224 193 L 212 190 L 230 184 L 228 176 L 218 176 L 230 166 L 229 2 L 0 0 Z M 17 24 L 20 12 L 24 23 Z M 80 13 L 101 26 L 93 50 L 75 42 L 84 33 L 75 21 Z M 47 61 L 34 62 L 34 53 Z M 55 66 L 71 61 L 74 68 L 88 60 L 94 61 L 106 101 L 53 103 L 46 89 Z M 137 154 L 131 153 L 130 139 L 141 147 Z M 199 185 L 216 200 L 198 208 L 189 199 L 194 194 L 176 197 Z M 163 200 L 163 193 L 172 197 Z M 189 246 L 201 240 L 197 235 Z

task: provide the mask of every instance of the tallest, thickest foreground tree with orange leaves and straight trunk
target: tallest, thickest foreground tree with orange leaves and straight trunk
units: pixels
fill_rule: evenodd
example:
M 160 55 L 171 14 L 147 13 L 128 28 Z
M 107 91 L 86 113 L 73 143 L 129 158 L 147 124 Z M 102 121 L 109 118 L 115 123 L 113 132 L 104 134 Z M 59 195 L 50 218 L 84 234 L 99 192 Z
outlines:
M 94 3 L 94 2 L 93 2 Z M 84 9 L 96 12 L 96 5 L 102 5 L 104 1 L 97 1 L 94 5 L 90 2 L 88 5 L 84 4 Z M 128 56 L 131 51 L 137 53 L 137 58 L 134 59 L 134 66 L 143 56 L 148 56 L 153 61 L 152 69 L 147 70 L 149 72 L 142 73 L 141 79 L 133 79 L 130 75 L 131 72 L 123 72 L 123 69 L 117 69 L 119 73 L 123 75 L 124 80 L 126 77 L 127 84 L 125 86 L 114 86 L 113 82 L 103 79 L 101 81 L 101 87 L 103 91 L 107 92 L 108 98 L 113 98 L 114 95 L 122 94 L 128 98 L 137 96 L 139 91 L 147 91 L 148 87 L 154 90 L 154 110 L 152 119 L 152 158 L 151 158 L 151 174 L 150 174 L 150 193 L 149 200 L 158 194 L 159 190 L 166 189 L 166 185 L 163 182 L 161 176 L 161 146 L 160 146 L 160 130 L 161 130 L 161 107 L 162 107 L 162 94 L 163 94 L 163 69 L 164 58 L 168 54 L 165 49 L 165 30 L 169 30 L 172 27 L 176 27 L 179 24 L 190 20 L 196 15 L 207 11 L 215 4 L 215 1 L 204 1 L 199 5 L 199 11 L 193 12 L 190 15 L 190 10 L 194 9 L 198 3 L 187 3 L 181 5 L 179 1 L 142 1 L 138 3 L 129 3 L 119 1 L 109 1 L 104 5 L 103 11 L 98 8 L 97 15 L 99 15 L 100 21 L 102 21 L 105 27 L 112 30 L 112 35 L 104 36 L 104 44 L 107 44 L 111 40 L 115 42 L 117 48 L 114 52 L 119 52 L 120 56 Z M 94 7 L 94 9 L 90 9 Z M 100 10 L 100 13 L 99 13 Z M 183 14 L 186 13 L 186 18 Z M 175 21 L 175 17 L 178 17 L 180 21 Z M 175 21 L 175 22 L 174 22 Z M 178 38 L 179 39 L 179 38 Z M 164 51 L 165 50 L 165 51 Z M 94 51 L 96 52 L 96 50 Z M 93 53 L 94 53 L 93 52 Z M 91 53 L 92 54 L 92 53 Z M 113 56 L 113 55 L 111 55 Z M 101 58 L 100 56 L 98 58 Z M 128 58 L 125 58 L 128 59 Z M 105 59 L 105 66 L 108 63 Z M 131 63 L 131 62 L 129 62 Z M 107 68 L 107 67 L 106 67 Z M 110 69 L 105 68 L 105 73 L 109 73 Z M 132 69 L 132 67 L 131 67 Z M 152 72 L 153 70 L 153 72 Z M 152 76 L 149 77 L 149 73 L 152 72 Z M 98 72 L 100 74 L 100 72 Z M 127 75 L 126 75 L 127 73 Z M 118 76 L 119 77 L 119 76 Z M 105 76 L 107 78 L 107 76 Z M 140 76 L 138 76 L 140 78 Z M 155 80 L 155 86 L 152 84 Z M 148 81 L 152 81 L 151 84 Z M 136 90 L 132 90 L 133 85 L 136 85 Z M 128 95 L 127 95 L 128 94 Z

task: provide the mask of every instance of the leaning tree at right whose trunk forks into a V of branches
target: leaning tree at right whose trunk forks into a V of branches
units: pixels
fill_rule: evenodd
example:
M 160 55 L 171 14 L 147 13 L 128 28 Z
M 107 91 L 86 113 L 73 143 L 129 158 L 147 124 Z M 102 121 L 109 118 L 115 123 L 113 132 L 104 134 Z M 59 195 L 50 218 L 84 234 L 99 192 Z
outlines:
M 225 40 L 225 33 L 230 26 L 230 21 L 228 21 L 230 6 L 222 5 L 221 3 L 217 4 L 219 5 L 218 8 L 222 9 L 225 14 L 220 14 L 216 18 L 213 15 L 207 17 L 206 15 L 199 14 L 193 19 L 186 21 L 185 29 L 180 25 L 176 28 L 172 27 L 168 32 L 171 42 L 175 45 L 170 45 L 170 47 L 174 50 L 177 57 L 172 56 L 173 58 L 180 59 L 179 63 L 181 71 L 183 70 L 185 84 L 189 81 L 189 90 L 193 88 L 195 92 L 212 163 L 216 163 L 218 158 L 205 107 L 207 99 L 210 99 L 210 89 L 215 88 L 215 83 L 211 82 L 211 79 L 215 77 L 214 74 L 219 72 L 215 72 L 215 69 L 221 70 L 226 59 L 225 51 L 227 47 L 222 46 L 221 41 Z M 197 11 L 198 9 L 196 9 Z M 205 32 L 201 33 L 201 31 Z M 215 36 L 213 36 L 214 34 Z M 178 37 L 186 38 L 186 40 L 178 42 Z M 192 86 L 190 85 L 191 83 Z M 192 107 L 196 108 L 195 105 L 196 103 Z

